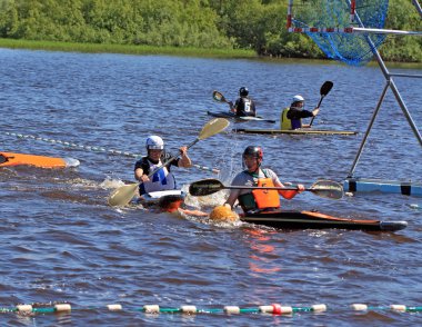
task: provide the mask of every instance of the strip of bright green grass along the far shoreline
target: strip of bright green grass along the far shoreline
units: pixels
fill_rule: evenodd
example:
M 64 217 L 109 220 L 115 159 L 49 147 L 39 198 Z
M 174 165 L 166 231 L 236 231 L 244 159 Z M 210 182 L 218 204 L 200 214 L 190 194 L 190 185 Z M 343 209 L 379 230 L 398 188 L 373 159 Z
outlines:
M 0 38 L 0 48 L 8 49 L 27 49 L 27 50 L 46 50 L 46 51 L 66 51 L 83 53 L 120 53 L 135 56 L 178 56 L 178 57 L 198 57 L 215 59 L 252 59 L 268 62 L 309 62 L 313 65 L 332 63 L 340 65 L 335 60 L 329 59 L 304 59 L 304 58 L 275 58 L 260 57 L 253 50 L 242 49 L 203 49 L 203 48 L 180 48 L 180 47 L 154 47 L 154 46 L 135 46 L 135 44 L 104 44 L 104 43 L 76 43 L 59 41 L 33 41 L 22 39 L 2 39 Z M 378 66 L 375 61 L 369 63 L 371 67 Z M 391 68 L 403 69 L 422 69 L 422 62 L 393 62 L 388 61 Z

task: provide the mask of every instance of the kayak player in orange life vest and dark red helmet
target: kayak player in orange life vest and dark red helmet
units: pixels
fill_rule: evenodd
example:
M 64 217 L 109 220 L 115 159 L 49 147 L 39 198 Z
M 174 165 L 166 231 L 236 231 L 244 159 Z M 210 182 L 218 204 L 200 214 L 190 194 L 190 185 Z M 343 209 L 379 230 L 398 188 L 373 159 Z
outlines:
M 260 147 L 249 146 L 242 158 L 247 169 L 234 177 L 232 186 L 284 187 L 274 171 L 261 168 L 263 152 Z M 244 212 L 278 209 L 280 208 L 279 195 L 285 199 L 292 199 L 303 190 L 304 186 L 301 184 L 298 185 L 298 190 L 232 189 L 224 206 L 233 208 L 235 200 L 239 200 Z

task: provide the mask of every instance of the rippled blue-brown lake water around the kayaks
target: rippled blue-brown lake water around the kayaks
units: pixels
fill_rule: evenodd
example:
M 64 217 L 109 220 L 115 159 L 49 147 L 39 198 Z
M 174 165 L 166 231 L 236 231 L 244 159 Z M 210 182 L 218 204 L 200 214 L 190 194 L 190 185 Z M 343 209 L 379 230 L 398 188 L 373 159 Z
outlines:
M 321 85 L 334 82 L 314 127 L 356 130 L 358 136 L 237 135 L 232 128 L 277 128 L 232 123 L 190 149 L 193 164 L 218 168 L 174 169 L 184 189 L 203 178 L 229 184 L 249 145 L 264 149 L 264 166 L 282 181 L 310 186 L 318 178 L 348 176 L 384 87 L 378 67 L 333 62 L 215 60 L 161 56 L 82 54 L 0 49 L 1 150 L 80 160 L 74 169 L 29 167 L 0 170 L 0 307 L 67 301 L 72 313 L 2 314 L 21 326 L 415 326 L 421 314 L 371 306 L 422 305 L 421 198 L 359 194 L 328 200 L 302 194 L 285 208 L 318 209 L 353 218 L 406 220 L 395 234 L 344 230 L 282 231 L 253 226 L 219 226 L 194 217 L 153 214 L 131 205 L 107 205 L 122 181 L 133 181 L 134 158 L 89 147 L 144 153 L 149 135 L 163 137 L 173 152 L 193 141 L 210 120 L 207 110 L 225 110 L 212 100 L 219 90 L 234 100 L 247 86 L 259 113 L 279 120 L 301 93 L 318 103 Z M 421 73 L 419 70 L 394 72 Z M 421 80 L 396 78 L 411 115 L 422 121 Z M 80 145 L 80 149 L 13 133 Z M 421 147 L 389 91 L 356 167 L 355 176 L 421 180 Z M 224 194 L 192 207 L 210 210 Z M 227 305 L 257 308 L 282 304 L 326 304 L 324 314 L 147 315 L 143 305 Z M 108 311 L 121 304 L 120 313 Z

